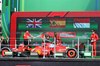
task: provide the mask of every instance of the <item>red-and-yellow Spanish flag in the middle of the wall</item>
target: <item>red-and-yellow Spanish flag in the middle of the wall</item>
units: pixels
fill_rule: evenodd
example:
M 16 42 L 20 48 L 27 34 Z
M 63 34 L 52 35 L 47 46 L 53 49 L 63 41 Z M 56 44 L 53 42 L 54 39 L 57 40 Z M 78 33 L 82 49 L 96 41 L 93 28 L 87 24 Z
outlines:
M 65 28 L 65 19 L 50 19 L 50 28 Z

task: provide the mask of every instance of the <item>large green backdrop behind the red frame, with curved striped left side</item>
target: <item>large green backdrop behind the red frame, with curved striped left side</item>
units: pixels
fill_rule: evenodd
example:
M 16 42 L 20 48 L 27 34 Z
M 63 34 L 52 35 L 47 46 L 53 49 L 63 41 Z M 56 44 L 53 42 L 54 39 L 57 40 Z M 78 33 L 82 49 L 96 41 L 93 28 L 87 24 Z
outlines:
M 10 17 L 15 11 L 100 11 L 99 3 L 100 0 L 3 0 L 3 36 L 10 35 Z

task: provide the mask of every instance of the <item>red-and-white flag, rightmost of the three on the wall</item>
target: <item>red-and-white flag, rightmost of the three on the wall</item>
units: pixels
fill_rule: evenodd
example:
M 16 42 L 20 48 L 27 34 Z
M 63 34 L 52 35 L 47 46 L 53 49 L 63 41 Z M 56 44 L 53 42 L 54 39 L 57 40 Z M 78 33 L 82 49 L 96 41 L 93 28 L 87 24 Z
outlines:
M 74 19 L 74 28 L 90 28 L 90 19 Z

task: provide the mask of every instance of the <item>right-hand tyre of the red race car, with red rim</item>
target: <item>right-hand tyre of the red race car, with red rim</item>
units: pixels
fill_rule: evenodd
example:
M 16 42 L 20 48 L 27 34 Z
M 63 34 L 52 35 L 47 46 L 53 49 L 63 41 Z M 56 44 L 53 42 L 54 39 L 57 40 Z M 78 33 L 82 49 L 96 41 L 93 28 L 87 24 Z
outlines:
M 68 48 L 64 53 L 66 58 L 77 58 L 77 50 L 75 48 Z

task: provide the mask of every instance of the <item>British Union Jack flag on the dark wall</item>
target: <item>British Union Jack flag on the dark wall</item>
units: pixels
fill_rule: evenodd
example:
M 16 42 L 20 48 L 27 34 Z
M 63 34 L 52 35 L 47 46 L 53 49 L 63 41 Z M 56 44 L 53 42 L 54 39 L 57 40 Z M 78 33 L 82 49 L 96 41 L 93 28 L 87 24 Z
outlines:
M 42 28 L 42 19 L 27 19 L 26 22 L 27 28 Z

